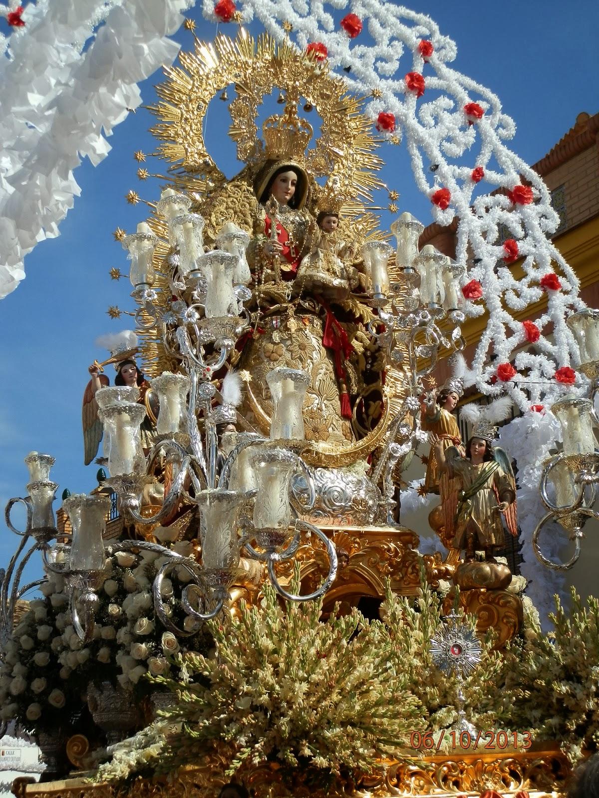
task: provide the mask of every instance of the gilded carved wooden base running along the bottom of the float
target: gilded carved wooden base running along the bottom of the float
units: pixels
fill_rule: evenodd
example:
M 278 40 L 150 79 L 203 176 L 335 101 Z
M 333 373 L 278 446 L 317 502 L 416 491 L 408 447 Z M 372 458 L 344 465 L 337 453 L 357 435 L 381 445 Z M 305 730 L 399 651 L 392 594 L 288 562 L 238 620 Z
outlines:
M 557 798 L 564 794 L 570 775 L 569 764 L 557 745 L 534 746 L 524 753 L 494 751 L 462 753 L 460 757 L 422 757 L 418 764 L 388 762 L 378 776 L 364 777 L 355 789 L 350 784 L 315 788 L 303 784 L 302 774 L 290 785 L 276 764 L 240 771 L 236 781 L 244 784 L 254 798 L 456 798 L 480 796 L 495 790 L 503 798 L 526 790 L 530 798 Z M 220 757 L 199 767 L 182 769 L 177 777 L 165 780 L 139 779 L 130 784 L 120 798 L 218 798 L 230 779 L 224 775 L 227 763 Z M 83 779 L 46 784 L 23 784 L 17 780 L 13 790 L 17 798 L 117 798 L 117 789 L 109 784 L 90 784 Z

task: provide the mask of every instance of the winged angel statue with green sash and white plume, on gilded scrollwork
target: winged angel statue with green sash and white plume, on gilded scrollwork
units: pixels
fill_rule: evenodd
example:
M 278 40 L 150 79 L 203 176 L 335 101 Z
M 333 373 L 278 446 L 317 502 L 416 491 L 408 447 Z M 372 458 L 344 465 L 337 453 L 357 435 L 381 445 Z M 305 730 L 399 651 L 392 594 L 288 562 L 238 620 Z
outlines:
M 474 422 L 465 456 L 454 446 L 444 449 L 442 440 L 431 434 L 439 468 L 453 484 L 443 500 L 446 530 L 453 535 L 453 547 L 466 550 L 466 563 L 477 550 L 495 563 L 494 552 L 504 546 L 502 515 L 511 534 L 518 535 L 514 472 L 506 452 L 493 445 L 494 424 L 507 417 L 510 406 L 505 397 L 488 408 L 471 405 L 462 410 L 462 417 L 466 411 L 467 420 Z

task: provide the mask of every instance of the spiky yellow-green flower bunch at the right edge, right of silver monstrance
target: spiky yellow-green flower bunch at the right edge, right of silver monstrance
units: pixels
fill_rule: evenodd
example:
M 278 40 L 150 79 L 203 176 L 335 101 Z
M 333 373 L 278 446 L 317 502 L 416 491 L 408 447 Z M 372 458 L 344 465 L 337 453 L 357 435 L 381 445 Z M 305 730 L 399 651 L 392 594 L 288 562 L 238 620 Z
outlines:
M 569 614 L 557 596 L 555 603 L 553 634 L 543 634 L 532 613 L 523 642 L 510 647 L 502 718 L 531 729 L 535 740 L 560 741 L 576 761 L 599 748 L 599 600 L 589 596 L 584 605 L 572 588 Z

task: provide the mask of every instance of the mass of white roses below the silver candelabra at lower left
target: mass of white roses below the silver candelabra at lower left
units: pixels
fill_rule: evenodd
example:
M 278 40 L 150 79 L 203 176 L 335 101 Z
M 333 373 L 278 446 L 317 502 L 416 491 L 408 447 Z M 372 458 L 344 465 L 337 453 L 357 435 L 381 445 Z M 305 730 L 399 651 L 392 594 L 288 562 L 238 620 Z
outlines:
M 98 591 L 93 639 L 85 645 L 73 627 L 64 580 L 50 575 L 40 587 L 43 598 L 30 602 L 30 612 L 14 628 L 0 655 L 3 720 L 16 718 L 32 732 L 56 728 L 61 720 L 57 713 L 81 705 L 91 680 L 118 681 L 141 697 L 153 689 L 145 674 L 171 672 L 167 657 L 180 646 L 154 618 L 149 586 L 156 573 L 155 559 L 126 552 L 109 561 L 109 579 Z M 164 600 L 182 626 L 185 616 L 171 587 L 172 595 Z M 187 645 L 204 650 L 208 638 L 198 630 L 186 638 Z

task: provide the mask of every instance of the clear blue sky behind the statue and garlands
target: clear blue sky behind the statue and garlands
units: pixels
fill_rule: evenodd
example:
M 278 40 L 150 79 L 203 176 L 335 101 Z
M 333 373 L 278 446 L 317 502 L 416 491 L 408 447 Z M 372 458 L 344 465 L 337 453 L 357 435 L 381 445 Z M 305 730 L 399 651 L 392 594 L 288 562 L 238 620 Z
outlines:
M 540 0 L 503 2 L 419 2 L 411 8 L 430 14 L 443 34 L 458 45 L 454 68 L 473 77 L 500 97 L 518 131 L 511 148 L 529 163 L 539 160 L 574 124 L 577 113 L 597 110 L 597 50 L 599 5 L 594 0 L 569 4 Z M 199 10 L 199 38 L 211 39 L 216 26 Z M 236 26 L 221 26 L 235 34 Z M 259 33 L 252 26 L 252 33 Z M 192 49 L 192 35 L 175 37 Z M 146 104 L 156 99 L 153 86 L 160 73 L 142 84 Z M 229 92 L 231 94 L 231 92 Z M 208 116 L 208 143 L 225 172 L 232 163 L 230 142 L 224 137 L 224 103 L 216 99 Z M 113 240 L 122 227 L 134 231 L 145 219 L 145 206 L 131 206 L 125 194 L 133 188 L 142 198 L 156 199 L 157 181 L 137 180 L 133 152 L 152 152 L 148 128 L 153 117 L 144 109 L 130 114 L 109 138 L 112 152 L 93 168 L 85 162 L 75 176 L 81 197 L 61 223 L 58 239 L 42 242 L 26 258 L 26 280 L 0 302 L 0 505 L 26 492 L 23 458 L 32 449 L 56 457 L 54 480 L 71 492 L 88 492 L 96 484 L 97 466 L 83 465 L 81 397 L 87 366 L 105 358 L 93 341 L 98 335 L 126 329 L 128 318 L 111 320 L 109 305 L 132 309 L 129 281 L 114 282 L 111 267 L 127 272 L 125 252 Z M 383 179 L 401 193 L 399 211 L 409 210 L 429 223 L 430 203 L 419 196 L 403 148 L 386 144 Z M 163 172 L 165 164 L 149 158 L 149 172 Z M 385 204 L 383 192 L 377 198 Z M 383 219 L 388 226 L 391 217 Z M 109 372 L 108 372 L 109 373 Z M 113 373 L 109 373 L 111 381 Z M 55 503 L 55 507 L 59 502 Z M 0 565 L 6 565 L 17 539 L 5 529 L 0 535 Z M 30 571 L 30 575 L 33 575 Z

